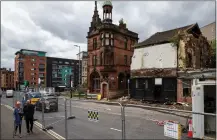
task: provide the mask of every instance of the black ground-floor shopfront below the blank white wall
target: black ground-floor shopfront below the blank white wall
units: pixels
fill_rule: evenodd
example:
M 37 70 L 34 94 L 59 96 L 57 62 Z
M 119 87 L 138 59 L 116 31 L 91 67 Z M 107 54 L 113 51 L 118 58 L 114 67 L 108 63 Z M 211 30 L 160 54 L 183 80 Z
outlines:
M 176 101 L 177 79 L 167 78 L 133 78 L 130 94 L 132 98 L 147 101 Z

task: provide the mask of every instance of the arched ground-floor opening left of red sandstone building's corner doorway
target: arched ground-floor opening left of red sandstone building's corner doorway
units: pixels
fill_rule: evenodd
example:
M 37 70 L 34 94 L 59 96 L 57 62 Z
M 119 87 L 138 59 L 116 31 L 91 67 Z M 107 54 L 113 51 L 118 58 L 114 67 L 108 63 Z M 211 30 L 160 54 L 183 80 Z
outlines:
M 99 93 L 100 92 L 100 75 L 98 72 L 93 71 L 90 74 L 90 91 L 91 92 L 96 92 Z

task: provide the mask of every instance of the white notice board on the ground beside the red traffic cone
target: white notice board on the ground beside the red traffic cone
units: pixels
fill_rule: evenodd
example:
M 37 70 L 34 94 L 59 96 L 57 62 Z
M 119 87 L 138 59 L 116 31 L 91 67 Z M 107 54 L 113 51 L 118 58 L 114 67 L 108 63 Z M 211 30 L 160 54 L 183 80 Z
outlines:
M 181 125 L 177 122 L 166 121 L 164 124 L 164 136 L 181 139 Z

